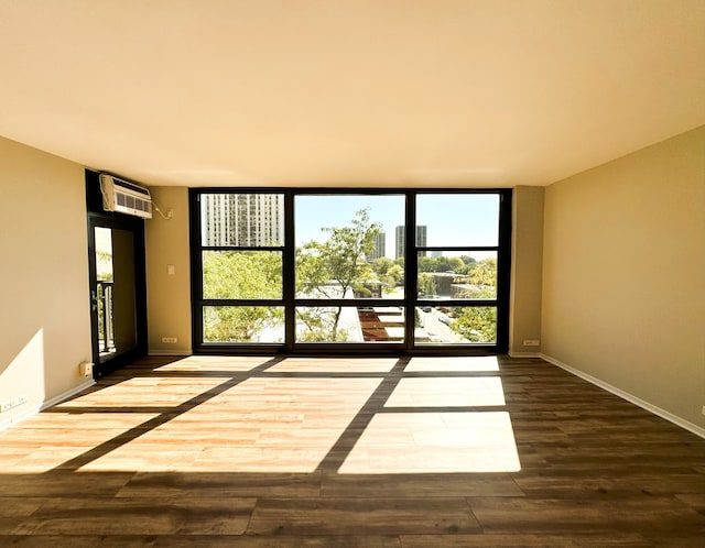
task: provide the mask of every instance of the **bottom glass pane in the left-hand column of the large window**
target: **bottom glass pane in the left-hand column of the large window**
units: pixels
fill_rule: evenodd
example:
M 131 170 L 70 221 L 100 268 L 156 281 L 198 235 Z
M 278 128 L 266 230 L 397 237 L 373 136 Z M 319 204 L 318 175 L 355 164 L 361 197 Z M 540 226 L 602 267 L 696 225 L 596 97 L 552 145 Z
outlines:
M 284 342 L 282 306 L 204 306 L 204 342 Z

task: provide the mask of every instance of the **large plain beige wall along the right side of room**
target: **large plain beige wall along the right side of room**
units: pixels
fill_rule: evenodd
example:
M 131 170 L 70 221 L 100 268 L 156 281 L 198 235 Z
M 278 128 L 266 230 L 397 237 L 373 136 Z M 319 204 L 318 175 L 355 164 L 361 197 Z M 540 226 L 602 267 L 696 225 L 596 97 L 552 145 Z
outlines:
M 546 188 L 542 339 L 705 427 L 705 127 Z

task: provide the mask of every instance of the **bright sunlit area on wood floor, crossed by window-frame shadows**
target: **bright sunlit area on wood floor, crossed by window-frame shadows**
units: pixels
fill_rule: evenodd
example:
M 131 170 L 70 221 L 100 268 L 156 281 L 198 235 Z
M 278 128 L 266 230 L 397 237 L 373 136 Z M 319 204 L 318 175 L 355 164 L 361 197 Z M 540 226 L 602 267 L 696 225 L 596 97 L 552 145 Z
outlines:
M 340 462 L 346 474 L 520 469 L 495 357 L 413 358 L 403 373 L 399 364 L 192 357 L 138 370 L 143 376 L 3 432 L 12 449 L 0 447 L 0 464 L 12 473 L 311 473 Z

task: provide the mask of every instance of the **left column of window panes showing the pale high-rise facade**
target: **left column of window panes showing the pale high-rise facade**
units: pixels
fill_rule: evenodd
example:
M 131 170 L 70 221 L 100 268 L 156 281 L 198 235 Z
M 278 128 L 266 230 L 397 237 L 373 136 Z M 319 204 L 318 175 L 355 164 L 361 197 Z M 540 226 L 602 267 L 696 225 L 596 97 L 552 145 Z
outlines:
M 284 196 L 204 193 L 194 295 L 200 344 L 281 344 Z

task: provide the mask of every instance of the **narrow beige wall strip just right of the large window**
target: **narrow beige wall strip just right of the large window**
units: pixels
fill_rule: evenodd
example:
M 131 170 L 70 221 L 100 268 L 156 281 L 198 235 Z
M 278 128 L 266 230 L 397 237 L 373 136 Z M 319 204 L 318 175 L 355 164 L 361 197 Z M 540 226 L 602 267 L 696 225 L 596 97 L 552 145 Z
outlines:
M 509 307 L 509 353 L 538 355 L 541 346 L 541 276 L 543 257 L 543 187 L 518 186 L 512 205 L 512 257 Z

